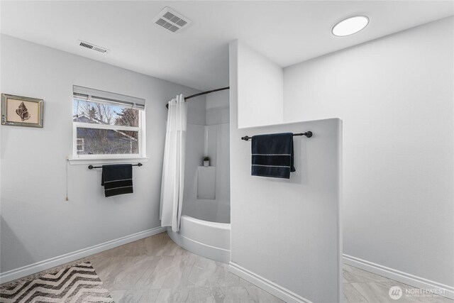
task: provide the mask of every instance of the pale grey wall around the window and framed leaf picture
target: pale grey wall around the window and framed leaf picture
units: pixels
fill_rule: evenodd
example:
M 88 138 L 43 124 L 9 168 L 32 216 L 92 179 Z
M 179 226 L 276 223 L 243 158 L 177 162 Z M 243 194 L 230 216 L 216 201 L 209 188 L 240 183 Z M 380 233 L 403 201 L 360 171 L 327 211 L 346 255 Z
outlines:
M 2 93 L 44 99 L 44 128 L 1 126 L 1 272 L 160 226 L 165 104 L 197 91 L 7 35 L 1 63 Z M 150 160 L 134 194 L 106 199 L 99 170 L 67 165 L 73 84 L 146 99 Z

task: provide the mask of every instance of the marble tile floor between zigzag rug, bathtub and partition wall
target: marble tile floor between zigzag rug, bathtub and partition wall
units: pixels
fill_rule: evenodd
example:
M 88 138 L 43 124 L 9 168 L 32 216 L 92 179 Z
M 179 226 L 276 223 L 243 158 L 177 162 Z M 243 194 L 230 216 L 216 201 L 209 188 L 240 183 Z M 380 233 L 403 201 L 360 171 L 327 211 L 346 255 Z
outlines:
M 228 272 L 226 264 L 180 248 L 167 233 L 87 259 L 116 303 L 283 302 Z

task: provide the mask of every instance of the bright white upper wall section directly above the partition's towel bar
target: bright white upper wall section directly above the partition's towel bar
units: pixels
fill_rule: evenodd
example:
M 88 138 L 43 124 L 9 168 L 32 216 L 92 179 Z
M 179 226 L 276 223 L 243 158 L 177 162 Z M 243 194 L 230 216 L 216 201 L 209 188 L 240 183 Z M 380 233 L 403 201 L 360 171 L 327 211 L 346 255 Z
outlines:
M 244 43 L 238 48 L 238 127 L 282 123 L 282 67 Z

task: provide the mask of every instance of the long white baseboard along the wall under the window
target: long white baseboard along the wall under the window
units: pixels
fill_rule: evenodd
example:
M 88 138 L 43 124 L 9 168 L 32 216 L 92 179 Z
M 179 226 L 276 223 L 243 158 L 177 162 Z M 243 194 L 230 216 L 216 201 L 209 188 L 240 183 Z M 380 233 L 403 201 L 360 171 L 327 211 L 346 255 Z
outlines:
M 21 268 L 16 268 L 14 270 L 9 270 L 7 272 L 0 273 L 0 284 L 5 282 L 10 282 L 12 280 L 20 279 L 21 277 L 26 277 L 28 275 L 33 275 L 36 272 L 40 272 L 42 270 L 48 270 L 50 268 L 54 268 L 55 266 L 60 266 L 65 263 L 69 263 L 78 259 L 85 258 L 89 255 L 93 255 L 94 253 L 101 253 L 101 251 L 108 250 L 111 248 L 116 248 L 117 246 L 122 246 L 127 243 L 131 243 L 133 241 L 138 241 L 143 238 L 147 238 L 149 236 L 153 236 L 157 233 L 163 233 L 166 231 L 165 227 L 155 227 L 148 229 L 146 231 L 140 231 L 138 233 L 133 233 L 129 236 L 124 236 L 121 238 L 117 238 L 115 240 L 107 241 L 101 244 L 97 244 L 95 246 L 91 246 L 88 248 L 83 248 L 81 250 L 76 250 L 72 253 L 66 253 L 65 255 L 59 255 L 54 258 L 50 258 L 48 260 L 43 260 L 37 263 L 33 263 L 31 265 L 26 265 Z

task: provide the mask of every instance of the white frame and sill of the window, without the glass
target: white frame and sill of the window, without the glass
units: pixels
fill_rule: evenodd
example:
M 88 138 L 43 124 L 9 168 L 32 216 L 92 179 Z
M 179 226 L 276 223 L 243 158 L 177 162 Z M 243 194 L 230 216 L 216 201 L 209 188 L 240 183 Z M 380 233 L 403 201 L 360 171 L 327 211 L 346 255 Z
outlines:
M 72 97 L 74 101 L 74 97 Z M 88 100 L 96 103 L 97 100 Z M 112 102 L 114 104 L 114 102 Z M 129 106 L 126 106 L 127 108 Z M 136 109 L 131 106 L 131 109 Z M 145 140 L 145 109 L 138 109 L 139 123 L 138 127 L 134 126 L 118 126 L 108 124 L 96 124 L 96 123 L 84 123 L 84 122 L 72 122 L 72 158 L 70 160 L 121 160 L 121 159 L 144 159 L 146 158 L 146 140 Z M 110 129 L 114 131 L 137 131 L 138 132 L 138 153 L 135 154 L 98 154 L 98 155 L 78 155 L 77 154 L 77 128 L 96 128 L 96 129 Z

